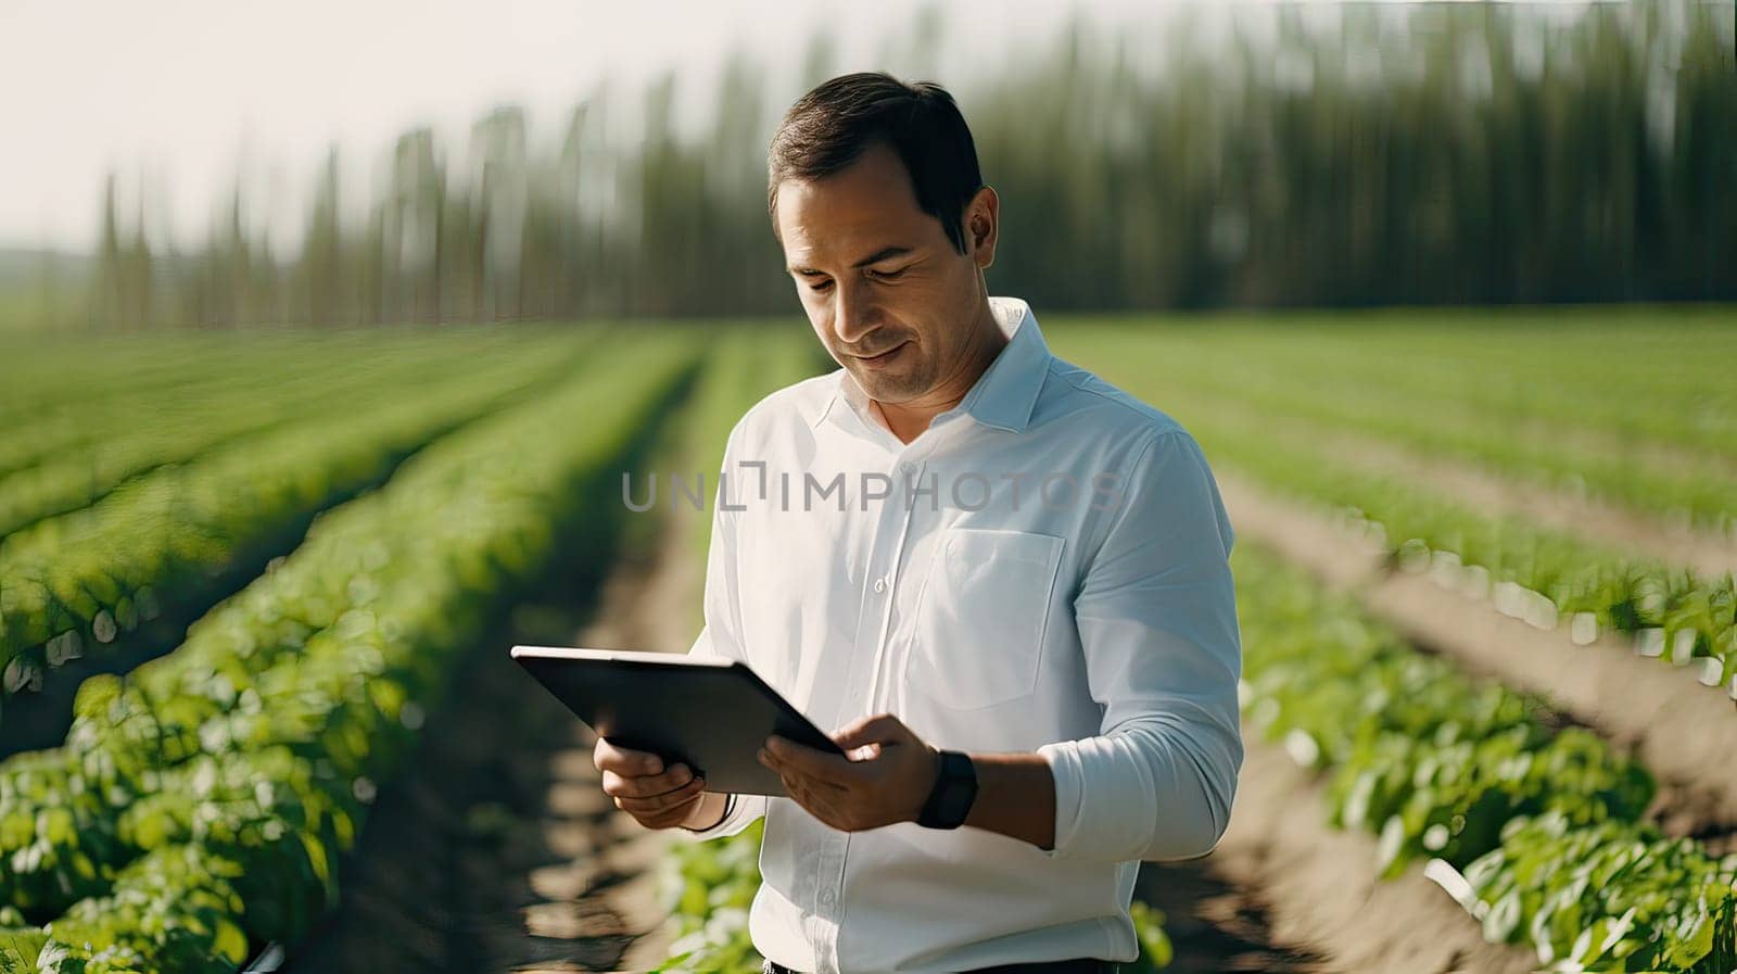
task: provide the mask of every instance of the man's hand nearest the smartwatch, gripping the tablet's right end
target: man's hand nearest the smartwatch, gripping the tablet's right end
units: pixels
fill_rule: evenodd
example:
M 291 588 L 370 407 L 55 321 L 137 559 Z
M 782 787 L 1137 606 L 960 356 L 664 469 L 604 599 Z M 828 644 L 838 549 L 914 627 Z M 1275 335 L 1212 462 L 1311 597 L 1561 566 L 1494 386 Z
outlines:
M 773 734 L 759 760 L 778 773 L 808 814 L 842 832 L 915 821 L 935 788 L 941 755 L 891 714 L 832 734 L 844 757 Z

